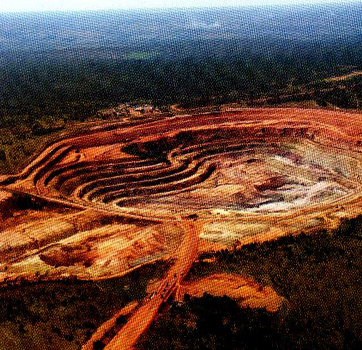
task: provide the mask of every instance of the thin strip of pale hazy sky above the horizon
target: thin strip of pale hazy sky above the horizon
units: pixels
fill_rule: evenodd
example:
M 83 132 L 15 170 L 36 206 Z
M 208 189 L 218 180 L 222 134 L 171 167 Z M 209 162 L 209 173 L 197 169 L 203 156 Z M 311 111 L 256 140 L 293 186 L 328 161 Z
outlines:
M 252 6 L 332 2 L 351 3 L 362 2 L 362 0 L 0 0 L 0 12 Z

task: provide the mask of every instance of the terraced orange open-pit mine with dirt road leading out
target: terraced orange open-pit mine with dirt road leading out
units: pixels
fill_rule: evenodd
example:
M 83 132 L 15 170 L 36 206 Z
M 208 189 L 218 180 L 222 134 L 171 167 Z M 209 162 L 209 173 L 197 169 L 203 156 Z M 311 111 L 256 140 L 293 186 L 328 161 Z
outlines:
M 359 114 L 317 109 L 89 127 L 0 178 L 0 280 L 105 279 L 170 260 L 134 316 L 146 327 L 145 312 L 178 293 L 198 253 L 359 214 L 361 151 Z M 127 326 L 133 334 L 132 319 Z

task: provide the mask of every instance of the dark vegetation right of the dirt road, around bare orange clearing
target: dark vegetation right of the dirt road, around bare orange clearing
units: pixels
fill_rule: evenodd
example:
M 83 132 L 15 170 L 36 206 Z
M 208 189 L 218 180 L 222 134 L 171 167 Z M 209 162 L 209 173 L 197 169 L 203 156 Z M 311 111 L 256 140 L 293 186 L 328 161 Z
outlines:
M 252 276 L 287 302 L 276 313 L 228 297 L 185 295 L 155 320 L 139 349 L 358 349 L 362 346 L 362 216 L 332 233 L 288 236 L 204 254 L 188 279 Z M 215 262 L 202 262 L 216 257 Z M 209 260 L 208 260 L 209 261 Z

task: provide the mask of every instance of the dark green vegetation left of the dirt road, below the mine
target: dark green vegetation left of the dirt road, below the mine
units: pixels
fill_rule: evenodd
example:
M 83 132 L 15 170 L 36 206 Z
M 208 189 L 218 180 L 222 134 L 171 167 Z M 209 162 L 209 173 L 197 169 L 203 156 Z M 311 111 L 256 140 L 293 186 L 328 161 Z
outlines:
M 165 263 L 108 281 L 23 283 L 0 289 L 0 349 L 80 349 L 125 305 L 146 296 Z

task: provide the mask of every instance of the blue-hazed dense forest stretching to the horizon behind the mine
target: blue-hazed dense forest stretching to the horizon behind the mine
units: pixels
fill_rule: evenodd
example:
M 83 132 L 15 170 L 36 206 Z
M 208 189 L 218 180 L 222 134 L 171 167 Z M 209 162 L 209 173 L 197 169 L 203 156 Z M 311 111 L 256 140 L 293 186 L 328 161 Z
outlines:
M 361 68 L 361 34 L 356 4 L 3 14 L 0 113 L 260 95 Z

